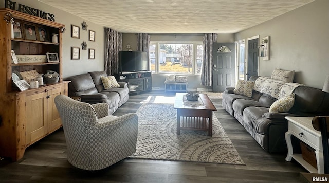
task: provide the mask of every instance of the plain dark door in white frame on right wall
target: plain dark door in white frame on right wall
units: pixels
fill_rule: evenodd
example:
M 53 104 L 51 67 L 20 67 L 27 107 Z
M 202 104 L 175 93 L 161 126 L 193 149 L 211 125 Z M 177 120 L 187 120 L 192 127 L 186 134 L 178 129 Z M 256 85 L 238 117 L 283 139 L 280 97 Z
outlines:
M 251 76 L 258 76 L 258 38 L 248 40 L 248 71 L 247 80 Z

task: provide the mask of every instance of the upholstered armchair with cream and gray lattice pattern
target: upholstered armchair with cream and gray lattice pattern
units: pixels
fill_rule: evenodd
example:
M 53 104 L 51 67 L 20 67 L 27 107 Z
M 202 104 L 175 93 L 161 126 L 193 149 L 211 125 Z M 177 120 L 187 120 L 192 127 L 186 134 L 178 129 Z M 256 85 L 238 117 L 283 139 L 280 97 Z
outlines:
M 62 119 L 67 159 L 84 170 L 100 170 L 136 151 L 135 113 L 108 115 L 108 105 L 79 102 L 64 95 L 54 99 Z

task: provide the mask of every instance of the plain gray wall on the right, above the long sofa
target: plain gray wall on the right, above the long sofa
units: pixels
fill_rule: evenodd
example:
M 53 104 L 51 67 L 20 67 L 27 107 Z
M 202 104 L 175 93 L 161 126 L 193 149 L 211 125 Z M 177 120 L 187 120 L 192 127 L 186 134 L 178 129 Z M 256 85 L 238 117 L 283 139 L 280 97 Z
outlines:
M 270 60 L 260 59 L 259 75 L 275 68 L 295 70 L 294 82 L 322 88 L 329 74 L 329 1 L 316 0 L 235 34 L 235 40 L 270 36 Z

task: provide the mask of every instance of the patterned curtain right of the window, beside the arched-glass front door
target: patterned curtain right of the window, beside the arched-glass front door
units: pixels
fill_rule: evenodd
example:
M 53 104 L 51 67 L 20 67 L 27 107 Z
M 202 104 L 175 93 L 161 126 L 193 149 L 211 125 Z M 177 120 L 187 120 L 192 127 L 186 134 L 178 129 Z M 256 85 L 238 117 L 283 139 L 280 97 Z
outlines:
M 201 85 L 212 86 L 213 44 L 217 41 L 217 34 L 204 35 L 204 60 L 201 68 Z

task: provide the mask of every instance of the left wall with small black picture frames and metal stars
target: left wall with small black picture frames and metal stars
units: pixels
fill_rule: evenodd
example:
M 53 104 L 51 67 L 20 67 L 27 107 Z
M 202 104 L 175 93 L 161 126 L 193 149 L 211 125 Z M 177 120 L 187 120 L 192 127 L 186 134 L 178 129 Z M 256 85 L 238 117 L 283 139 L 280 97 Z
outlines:
M 82 74 L 89 71 L 104 70 L 104 44 L 105 33 L 102 26 L 81 19 L 78 16 L 54 8 L 39 1 L 13 0 L 31 8 L 40 9 L 55 15 L 55 21 L 65 24 L 65 33 L 63 33 L 63 78 Z M 16 5 L 17 7 L 18 5 Z M 0 7 L 5 7 L 5 1 L 0 0 Z M 82 22 L 88 25 L 87 30 L 82 29 Z M 80 39 L 71 38 L 71 24 L 80 27 Z M 89 29 L 96 32 L 95 42 L 89 40 Z M 87 50 L 82 50 L 81 44 L 87 43 Z M 71 60 L 71 46 L 80 47 L 80 60 Z M 95 49 L 95 59 L 88 59 L 88 48 Z

